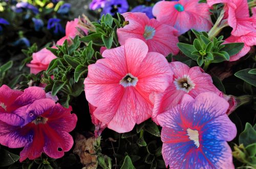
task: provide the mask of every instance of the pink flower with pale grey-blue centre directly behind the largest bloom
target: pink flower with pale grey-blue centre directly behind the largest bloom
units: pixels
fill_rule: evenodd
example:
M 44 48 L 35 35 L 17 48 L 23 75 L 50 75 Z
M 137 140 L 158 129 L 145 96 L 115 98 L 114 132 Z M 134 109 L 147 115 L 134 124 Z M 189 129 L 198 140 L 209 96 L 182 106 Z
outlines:
M 138 38 L 143 40 L 147 46 L 148 51 L 155 51 L 163 55 L 169 53 L 177 54 L 179 42 L 177 33 L 173 26 L 161 24 L 155 18 L 150 19 L 145 13 L 124 13 L 126 21 L 129 24 L 117 30 L 118 40 L 121 45 L 129 38 Z

